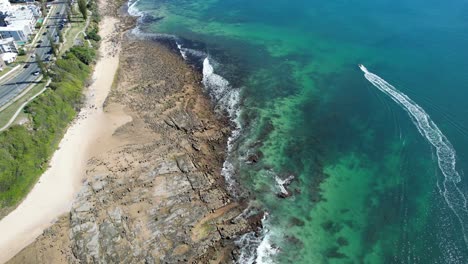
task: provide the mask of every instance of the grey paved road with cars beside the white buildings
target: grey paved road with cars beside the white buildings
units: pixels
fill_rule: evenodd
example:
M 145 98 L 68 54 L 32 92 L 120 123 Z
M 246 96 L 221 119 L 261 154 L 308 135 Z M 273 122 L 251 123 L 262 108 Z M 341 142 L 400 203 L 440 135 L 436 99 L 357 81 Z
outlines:
M 56 0 L 51 4 L 51 15 L 45 25 L 46 27 L 48 27 L 48 33 L 39 36 L 38 42 L 42 41 L 42 43 L 40 43 L 40 47 L 33 48 L 33 53 L 31 53 L 39 54 L 43 60 L 47 57 L 50 57 L 52 53 L 51 45 L 49 43 L 49 38 L 47 37 L 47 35 L 50 33 L 50 35 L 53 38 L 55 38 L 55 36 L 58 35 L 60 21 L 66 18 L 67 5 L 65 0 Z M 15 77 L 0 84 L 0 107 L 8 103 L 10 100 L 14 99 L 18 94 L 20 94 L 32 83 L 38 82 L 38 76 L 35 76 L 33 74 L 34 72 L 39 71 L 39 66 L 36 63 L 36 59 L 29 58 L 26 64 L 29 65 L 28 68 L 23 67 L 19 69 L 19 73 L 16 73 Z

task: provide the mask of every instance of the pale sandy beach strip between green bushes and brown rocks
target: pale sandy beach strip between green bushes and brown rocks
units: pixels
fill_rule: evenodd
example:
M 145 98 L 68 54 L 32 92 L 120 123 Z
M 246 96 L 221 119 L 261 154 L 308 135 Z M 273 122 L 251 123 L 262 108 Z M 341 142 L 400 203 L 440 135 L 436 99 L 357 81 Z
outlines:
M 113 39 L 116 24 L 116 18 L 102 19 L 101 57 L 95 66 L 92 85 L 85 92 L 86 103 L 65 133 L 49 169 L 22 203 L 0 221 L 0 263 L 13 257 L 60 215 L 70 211 L 85 178 L 89 158 L 118 145 L 119 142 L 112 142 L 113 132 L 131 121 L 119 106 L 103 110 L 119 65 L 120 42 Z

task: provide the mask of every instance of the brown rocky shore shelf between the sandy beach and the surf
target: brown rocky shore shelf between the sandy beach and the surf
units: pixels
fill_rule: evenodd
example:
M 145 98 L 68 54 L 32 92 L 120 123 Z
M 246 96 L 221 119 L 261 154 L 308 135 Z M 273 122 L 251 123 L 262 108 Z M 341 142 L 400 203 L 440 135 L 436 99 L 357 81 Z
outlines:
M 71 212 L 9 263 L 229 263 L 234 239 L 261 225 L 225 189 L 230 123 L 214 113 L 201 74 L 162 44 L 120 36 L 105 111 L 132 121 L 89 160 Z

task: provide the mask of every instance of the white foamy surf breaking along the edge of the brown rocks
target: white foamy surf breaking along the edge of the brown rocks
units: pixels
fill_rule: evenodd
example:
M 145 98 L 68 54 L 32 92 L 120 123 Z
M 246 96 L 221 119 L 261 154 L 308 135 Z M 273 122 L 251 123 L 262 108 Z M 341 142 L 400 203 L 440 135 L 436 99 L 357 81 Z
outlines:
M 221 174 L 226 181 L 227 190 L 233 194 L 237 193 L 237 182 L 235 180 L 236 167 L 234 162 L 236 157 L 233 154 L 233 148 L 236 140 L 241 135 L 242 126 L 240 122 L 240 88 L 232 87 L 228 80 L 221 75 L 215 73 L 215 67 L 212 64 L 212 58 L 206 52 L 191 49 L 184 46 L 184 40 L 177 36 L 160 33 L 147 33 L 141 30 L 140 24 L 145 13 L 140 11 L 136 5 L 139 0 L 130 1 L 128 4 L 128 13 L 132 16 L 139 17 L 138 25 L 131 30 L 131 34 L 139 39 L 150 39 L 159 41 L 169 41 L 175 44 L 182 58 L 188 63 L 193 63 L 196 67 L 201 66 L 203 73 L 202 84 L 210 99 L 215 105 L 218 112 L 226 113 L 232 123 L 234 129 L 231 132 L 227 142 L 227 157 L 223 163 Z M 171 44 L 171 45 L 172 45 Z M 200 65 L 201 64 L 201 65 Z M 262 219 L 262 225 L 267 225 L 267 216 L 265 213 Z M 278 249 L 272 246 L 272 232 L 267 228 L 259 230 L 259 232 L 250 232 L 239 237 L 235 243 L 240 248 L 240 255 L 237 263 L 272 263 L 271 257 L 277 253 Z

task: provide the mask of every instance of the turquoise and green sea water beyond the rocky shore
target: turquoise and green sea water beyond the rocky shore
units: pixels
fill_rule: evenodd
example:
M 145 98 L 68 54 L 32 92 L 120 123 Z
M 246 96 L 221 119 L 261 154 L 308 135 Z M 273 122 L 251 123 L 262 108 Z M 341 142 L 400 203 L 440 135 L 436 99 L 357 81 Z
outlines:
M 142 31 L 177 36 L 200 66 L 208 57 L 208 91 L 240 109 L 225 174 L 269 212 L 241 262 L 468 263 L 468 2 L 136 7 L 154 18 Z M 291 175 L 292 196 L 278 198 Z

